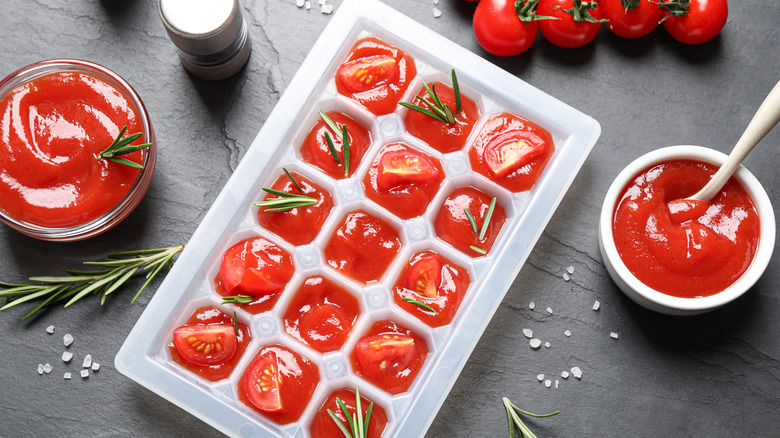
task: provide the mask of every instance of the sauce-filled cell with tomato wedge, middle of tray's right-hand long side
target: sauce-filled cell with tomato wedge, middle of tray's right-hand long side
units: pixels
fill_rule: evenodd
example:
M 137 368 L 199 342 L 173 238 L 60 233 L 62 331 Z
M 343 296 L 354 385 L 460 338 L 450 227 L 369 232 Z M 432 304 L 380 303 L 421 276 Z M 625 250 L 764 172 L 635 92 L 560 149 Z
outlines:
M 435 251 L 412 255 L 393 287 L 393 299 L 402 309 L 431 327 L 447 325 L 463 301 L 471 283 L 468 272 Z M 403 300 L 411 298 L 432 307 L 431 312 Z

